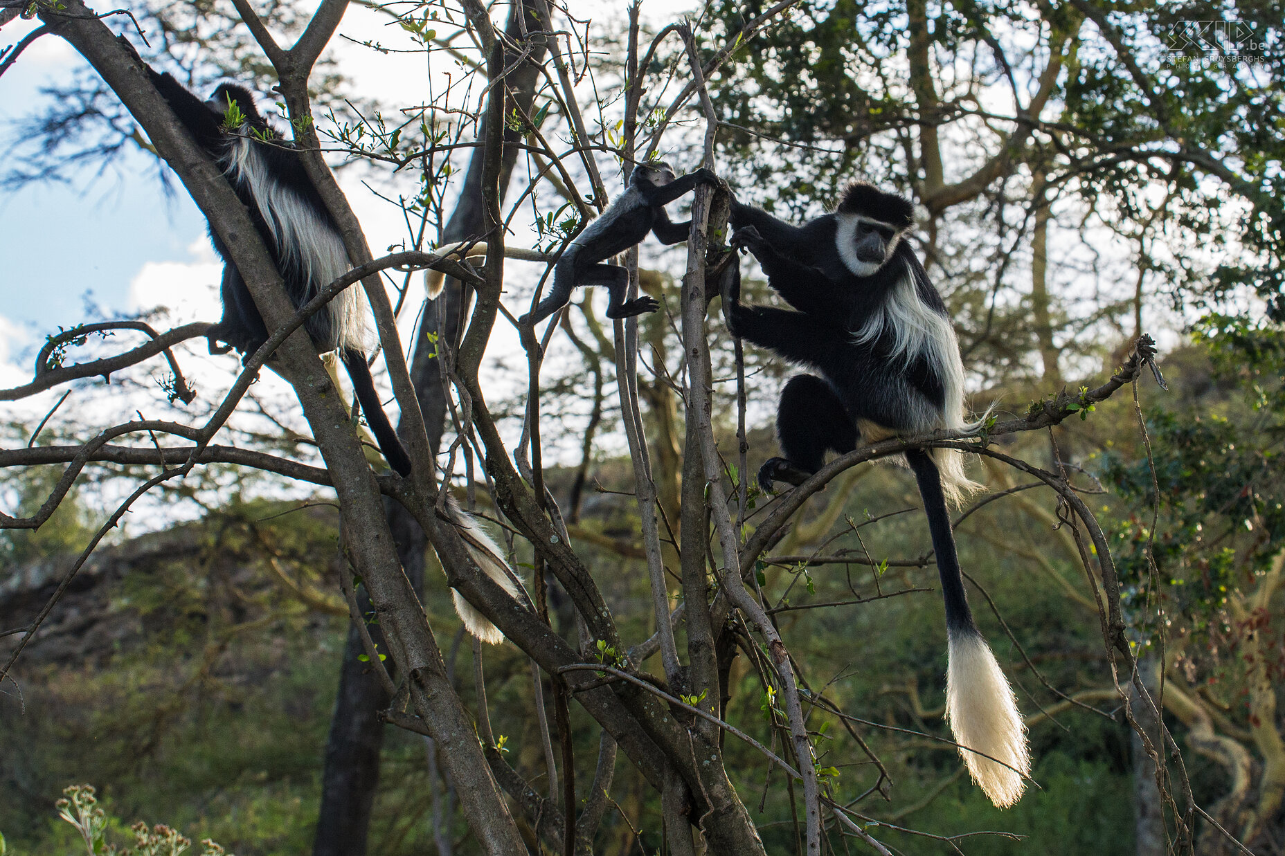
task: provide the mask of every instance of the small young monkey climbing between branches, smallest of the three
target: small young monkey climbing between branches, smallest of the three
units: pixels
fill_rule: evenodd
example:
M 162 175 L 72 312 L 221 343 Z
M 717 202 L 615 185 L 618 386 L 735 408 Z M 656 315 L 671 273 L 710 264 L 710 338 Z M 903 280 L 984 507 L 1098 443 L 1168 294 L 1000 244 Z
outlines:
M 567 247 L 554 269 L 553 290 L 519 323 L 537 324 L 549 317 L 567 305 L 577 285 L 607 285 L 612 296 L 607 317 L 630 317 L 658 310 L 660 305 L 646 294 L 625 299 L 630 285 L 628 271 L 603 262 L 641 243 L 649 231 L 655 233 L 662 244 L 686 240 L 691 222 L 672 222 L 664 206 L 690 193 L 702 181 L 717 185 L 718 176 L 700 168 L 675 177 L 673 167 L 663 161 L 634 167 L 630 186 Z

